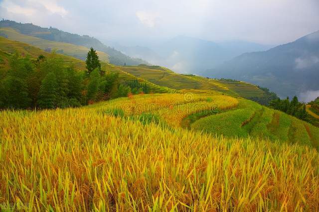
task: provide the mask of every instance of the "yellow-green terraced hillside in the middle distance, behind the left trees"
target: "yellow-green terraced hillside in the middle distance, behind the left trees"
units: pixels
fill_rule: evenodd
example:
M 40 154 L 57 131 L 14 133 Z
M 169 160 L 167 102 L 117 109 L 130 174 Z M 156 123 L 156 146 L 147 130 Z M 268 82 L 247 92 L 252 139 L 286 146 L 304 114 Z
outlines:
M 13 53 L 17 50 L 25 56 L 30 55 L 33 58 L 37 58 L 39 55 L 46 56 L 50 54 L 34 46 L 12 41 L 1 36 L 0 50 L 8 53 Z M 65 62 L 73 63 L 78 69 L 85 69 L 84 61 L 69 56 L 60 56 L 63 57 Z M 246 99 L 256 97 L 263 98 L 267 96 L 264 91 L 249 83 L 213 80 L 193 75 L 181 75 L 160 66 L 115 66 L 102 63 L 102 67 L 106 71 L 119 73 L 120 79 L 123 81 L 138 79 L 141 83 L 147 83 L 155 93 L 176 92 L 176 90 L 180 90 L 179 92 L 189 92 L 189 89 L 191 89 L 193 90 L 192 92 L 202 92 L 202 90 L 204 90 L 204 92 L 222 92 L 227 95 L 239 96 Z

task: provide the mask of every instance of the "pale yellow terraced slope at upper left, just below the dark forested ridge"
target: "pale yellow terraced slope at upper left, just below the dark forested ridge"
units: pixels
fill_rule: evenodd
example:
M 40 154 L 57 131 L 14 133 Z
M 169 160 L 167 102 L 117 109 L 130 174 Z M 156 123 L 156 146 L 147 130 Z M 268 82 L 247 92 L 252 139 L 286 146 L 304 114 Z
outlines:
M 0 28 L 0 34 L 10 40 L 16 40 L 22 43 L 27 43 L 32 46 L 38 47 L 42 50 L 51 51 L 56 50 L 57 53 L 69 55 L 80 60 L 85 60 L 88 48 L 84 46 L 73 45 L 69 43 L 55 42 L 44 40 L 41 38 L 28 36 L 17 32 L 13 28 L 2 27 Z M 109 56 L 104 52 L 97 52 L 101 61 L 108 62 Z

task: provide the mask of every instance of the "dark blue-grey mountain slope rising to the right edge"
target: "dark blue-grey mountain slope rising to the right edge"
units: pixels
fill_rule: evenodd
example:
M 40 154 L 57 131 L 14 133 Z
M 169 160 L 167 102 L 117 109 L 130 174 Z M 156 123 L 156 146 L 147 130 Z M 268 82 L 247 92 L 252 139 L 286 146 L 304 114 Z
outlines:
M 309 101 L 319 96 L 319 31 L 268 51 L 242 54 L 202 74 L 244 80 L 282 98 L 298 95 Z

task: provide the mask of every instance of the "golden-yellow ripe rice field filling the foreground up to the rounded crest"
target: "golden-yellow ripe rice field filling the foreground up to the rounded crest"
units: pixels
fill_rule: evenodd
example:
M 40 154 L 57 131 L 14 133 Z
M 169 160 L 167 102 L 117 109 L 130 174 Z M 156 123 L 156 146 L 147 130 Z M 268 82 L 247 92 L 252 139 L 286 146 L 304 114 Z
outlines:
M 319 154 L 310 144 L 289 135 L 286 142 L 225 138 L 180 127 L 183 117 L 216 110 L 234 132 L 267 132 L 273 122 L 282 138 L 302 126 L 316 135 L 303 121 L 261 109 L 187 93 L 0 111 L 0 200 L 31 211 L 318 211 Z

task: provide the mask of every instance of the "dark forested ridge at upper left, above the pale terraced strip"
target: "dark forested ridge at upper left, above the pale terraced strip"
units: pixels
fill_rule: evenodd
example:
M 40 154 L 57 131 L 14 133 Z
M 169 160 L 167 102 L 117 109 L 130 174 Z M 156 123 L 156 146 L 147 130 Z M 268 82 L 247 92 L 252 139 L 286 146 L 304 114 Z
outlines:
M 90 37 L 88 35 L 81 36 L 78 34 L 64 32 L 52 27 L 43 28 L 32 23 L 17 23 L 11 20 L 1 20 L 0 27 L 11 27 L 17 29 L 22 34 L 42 38 L 45 40 L 71 43 L 75 45 L 85 46 L 87 48 L 93 47 L 98 51 L 107 53 L 109 55 L 110 63 L 115 65 L 138 65 L 142 63 L 148 64 L 148 62 L 142 59 L 127 56 L 122 52 L 103 44 L 98 39 Z

